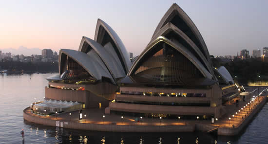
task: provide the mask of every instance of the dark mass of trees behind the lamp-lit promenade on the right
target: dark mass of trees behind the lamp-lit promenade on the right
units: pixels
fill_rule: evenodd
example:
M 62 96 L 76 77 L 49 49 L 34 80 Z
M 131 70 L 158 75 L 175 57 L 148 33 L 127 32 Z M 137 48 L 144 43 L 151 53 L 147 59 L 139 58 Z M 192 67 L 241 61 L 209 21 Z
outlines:
M 229 62 L 224 62 L 220 58 L 211 58 L 211 60 L 216 68 L 224 66 L 233 79 L 240 84 L 246 85 L 249 81 L 255 82 L 268 78 L 268 63 L 262 62 L 260 59 L 233 59 Z

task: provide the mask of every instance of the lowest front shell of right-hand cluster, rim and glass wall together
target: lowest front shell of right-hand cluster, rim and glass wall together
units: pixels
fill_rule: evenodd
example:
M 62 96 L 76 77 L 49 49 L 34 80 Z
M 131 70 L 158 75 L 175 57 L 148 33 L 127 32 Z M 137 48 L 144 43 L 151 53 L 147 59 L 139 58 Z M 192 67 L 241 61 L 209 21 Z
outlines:
M 210 72 L 184 46 L 159 36 L 134 62 L 128 73 L 139 81 L 188 85 L 196 78 L 212 78 Z

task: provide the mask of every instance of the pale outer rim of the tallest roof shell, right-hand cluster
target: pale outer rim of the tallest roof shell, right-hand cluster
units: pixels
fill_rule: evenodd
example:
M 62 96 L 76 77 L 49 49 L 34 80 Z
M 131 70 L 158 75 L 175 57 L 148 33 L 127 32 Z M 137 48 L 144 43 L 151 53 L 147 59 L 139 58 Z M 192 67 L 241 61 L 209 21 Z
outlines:
M 193 34 L 196 36 L 197 40 L 199 41 L 199 43 L 201 44 L 201 49 L 204 51 L 204 56 L 206 57 L 206 59 L 208 60 L 208 62 L 210 63 L 211 67 L 212 67 L 212 63 L 211 63 L 211 59 L 210 59 L 210 54 L 208 51 L 208 48 L 206 46 L 206 43 L 202 37 L 202 35 L 200 34 L 199 30 L 197 29 L 197 27 L 195 26 L 195 24 L 193 23 L 193 21 L 191 20 L 191 18 L 183 11 L 183 9 L 181 7 L 179 7 L 176 3 L 173 3 L 172 6 L 168 9 L 168 11 L 165 13 L 165 15 L 161 18 L 160 22 L 158 23 L 153 36 L 160 31 L 160 29 L 168 22 L 170 22 L 172 19 L 172 14 L 175 12 L 175 15 L 180 16 L 184 22 L 186 22 L 186 24 L 189 26 L 189 28 L 191 29 L 191 31 L 193 32 Z M 153 38 L 152 36 L 152 38 Z

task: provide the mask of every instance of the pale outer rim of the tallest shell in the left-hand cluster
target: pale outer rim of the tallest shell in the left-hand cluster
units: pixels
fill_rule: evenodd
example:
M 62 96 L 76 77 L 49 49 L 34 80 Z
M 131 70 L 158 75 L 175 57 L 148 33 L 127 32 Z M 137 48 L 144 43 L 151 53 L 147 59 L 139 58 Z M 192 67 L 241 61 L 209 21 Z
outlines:
M 116 48 L 117 48 L 118 52 L 120 53 L 120 55 L 118 55 L 118 56 L 122 57 L 123 62 L 124 62 L 124 67 L 126 69 L 126 72 L 128 72 L 132 66 L 132 63 L 129 59 L 129 54 L 128 54 L 122 40 L 106 22 L 104 22 L 103 20 L 101 20 L 99 18 L 97 19 L 94 40 L 96 42 L 98 41 L 98 33 L 99 33 L 100 26 L 103 27 L 105 29 L 105 31 L 109 34 L 109 36 L 113 39 L 113 41 L 116 45 Z

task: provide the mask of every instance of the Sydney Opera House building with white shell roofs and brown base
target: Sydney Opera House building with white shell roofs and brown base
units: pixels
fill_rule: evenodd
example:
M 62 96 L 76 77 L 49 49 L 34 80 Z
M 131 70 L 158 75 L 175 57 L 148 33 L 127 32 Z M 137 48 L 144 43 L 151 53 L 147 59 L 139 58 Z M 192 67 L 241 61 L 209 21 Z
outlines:
M 98 19 L 94 40 L 83 36 L 78 51 L 60 50 L 58 71 L 47 78 L 47 100 L 106 114 L 219 118 L 224 99 L 238 93 L 230 73 L 212 66 L 200 32 L 175 3 L 133 63 L 119 36 Z

